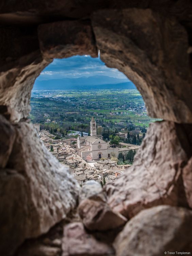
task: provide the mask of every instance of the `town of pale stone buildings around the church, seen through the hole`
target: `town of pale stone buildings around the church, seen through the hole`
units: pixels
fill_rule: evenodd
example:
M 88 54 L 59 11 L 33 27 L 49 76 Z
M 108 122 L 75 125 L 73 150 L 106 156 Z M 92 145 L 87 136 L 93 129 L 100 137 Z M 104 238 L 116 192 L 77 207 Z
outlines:
M 92 117 L 90 135 L 77 138 L 55 139 L 55 135 L 48 130 L 42 130 L 39 124 L 34 124 L 37 133 L 48 151 L 54 155 L 62 165 L 65 165 L 80 186 L 88 180 L 95 180 L 105 185 L 124 173 L 132 164 L 133 157 L 139 145 L 124 143 L 129 132 L 117 132 L 113 140 L 106 142 L 103 136 L 97 134 L 97 124 Z

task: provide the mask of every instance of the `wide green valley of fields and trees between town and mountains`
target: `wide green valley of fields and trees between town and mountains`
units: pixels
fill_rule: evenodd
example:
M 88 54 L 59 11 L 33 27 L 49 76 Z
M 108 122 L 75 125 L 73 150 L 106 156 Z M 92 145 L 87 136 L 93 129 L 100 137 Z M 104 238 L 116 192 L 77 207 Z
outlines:
M 33 123 L 65 130 L 81 127 L 89 132 L 92 116 L 97 125 L 117 130 L 128 124 L 147 128 L 154 120 L 135 89 L 32 91 L 31 107 Z

